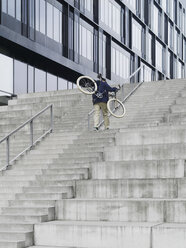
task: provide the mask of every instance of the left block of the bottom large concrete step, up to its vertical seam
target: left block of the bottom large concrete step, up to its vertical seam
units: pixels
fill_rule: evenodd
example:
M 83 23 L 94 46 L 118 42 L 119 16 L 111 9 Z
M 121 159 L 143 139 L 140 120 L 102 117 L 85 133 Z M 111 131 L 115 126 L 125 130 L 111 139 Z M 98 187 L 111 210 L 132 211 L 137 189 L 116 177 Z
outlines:
M 35 245 L 90 247 L 91 244 L 92 248 L 123 248 L 125 244 L 132 248 L 150 248 L 151 228 L 157 224 L 53 221 L 35 226 Z

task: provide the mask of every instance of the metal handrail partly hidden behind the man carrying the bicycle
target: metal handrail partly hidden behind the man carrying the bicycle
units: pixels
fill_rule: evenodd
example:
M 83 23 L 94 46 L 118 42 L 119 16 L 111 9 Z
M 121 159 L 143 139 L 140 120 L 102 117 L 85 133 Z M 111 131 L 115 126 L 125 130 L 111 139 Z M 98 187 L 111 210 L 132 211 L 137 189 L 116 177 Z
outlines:
M 128 82 L 133 76 L 135 76 L 141 69 L 143 68 L 143 80 L 138 83 L 138 85 L 124 98 L 124 84 L 126 82 Z M 133 93 L 134 91 L 137 90 L 137 88 L 144 82 L 144 74 L 145 74 L 145 66 L 144 65 L 141 65 L 135 72 L 133 72 L 128 78 L 126 78 L 124 80 L 124 82 L 122 83 L 121 85 L 121 90 L 122 90 L 122 96 L 123 96 L 123 100 L 122 100 L 122 103 L 124 103 Z M 92 109 L 89 113 L 88 113 L 88 130 L 90 130 L 90 117 L 91 115 L 94 113 L 94 109 Z M 100 126 L 104 123 L 104 121 L 102 120 L 99 125 L 98 125 L 98 128 L 100 128 Z

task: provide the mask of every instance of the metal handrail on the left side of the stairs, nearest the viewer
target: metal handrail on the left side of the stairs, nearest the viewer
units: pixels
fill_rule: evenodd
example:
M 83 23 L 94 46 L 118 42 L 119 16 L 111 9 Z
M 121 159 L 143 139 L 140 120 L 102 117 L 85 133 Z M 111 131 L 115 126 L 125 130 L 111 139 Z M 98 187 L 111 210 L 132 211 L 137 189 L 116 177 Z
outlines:
M 42 113 L 44 113 L 47 109 L 50 108 L 50 129 L 48 131 L 46 131 L 43 135 L 41 135 L 37 140 L 34 141 L 33 138 L 33 121 L 34 119 L 36 119 L 38 116 L 40 116 Z M 28 123 L 30 123 L 30 146 L 28 146 L 26 149 L 24 149 L 21 153 L 19 153 L 16 157 L 14 157 L 11 161 L 10 161 L 10 137 L 15 134 L 17 131 L 19 131 L 20 129 L 22 129 L 23 127 L 25 127 Z M 37 114 L 35 114 L 33 117 L 31 117 L 30 119 L 28 119 L 26 122 L 24 122 L 22 125 L 20 125 L 19 127 L 17 127 L 15 130 L 13 130 L 12 132 L 10 132 L 7 136 L 5 136 L 3 139 L 0 140 L 0 144 L 6 140 L 6 160 L 7 160 L 7 164 L 2 167 L 0 169 L 0 171 L 2 170 L 6 170 L 6 168 L 13 162 L 15 161 L 18 157 L 20 157 L 23 153 L 25 153 L 26 151 L 28 151 L 29 149 L 31 149 L 39 140 L 41 140 L 42 138 L 44 138 L 48 133 L 51 133 L 53 131 L 53 104 L 48 105 L 47 107 L 45 107 L 44 109 L 42 109 L 40 112 L 38 112 Z

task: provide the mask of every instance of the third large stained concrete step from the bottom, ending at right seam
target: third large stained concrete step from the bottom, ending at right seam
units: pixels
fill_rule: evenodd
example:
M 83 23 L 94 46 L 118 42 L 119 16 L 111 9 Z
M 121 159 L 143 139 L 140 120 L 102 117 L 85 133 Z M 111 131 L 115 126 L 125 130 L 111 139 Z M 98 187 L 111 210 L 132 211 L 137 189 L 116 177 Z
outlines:
M 180 192 L 179 197 L 182 197 L 181 195 Z M 178 179 L 100 179 L 77 181 L 76 197 L 81 199 L 177 198 Z

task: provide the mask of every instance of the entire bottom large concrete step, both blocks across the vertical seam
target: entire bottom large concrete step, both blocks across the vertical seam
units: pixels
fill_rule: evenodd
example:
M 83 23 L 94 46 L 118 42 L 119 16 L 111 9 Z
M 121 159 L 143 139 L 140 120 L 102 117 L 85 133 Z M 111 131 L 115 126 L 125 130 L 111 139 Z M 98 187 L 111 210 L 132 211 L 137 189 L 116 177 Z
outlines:
M 53 221 L 37 224 L 35 237 L 36 247 L 183 248 L 186 224 Z

